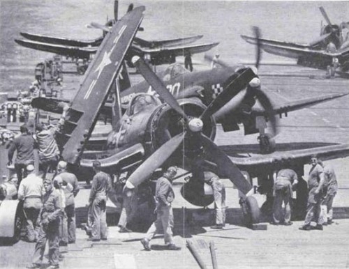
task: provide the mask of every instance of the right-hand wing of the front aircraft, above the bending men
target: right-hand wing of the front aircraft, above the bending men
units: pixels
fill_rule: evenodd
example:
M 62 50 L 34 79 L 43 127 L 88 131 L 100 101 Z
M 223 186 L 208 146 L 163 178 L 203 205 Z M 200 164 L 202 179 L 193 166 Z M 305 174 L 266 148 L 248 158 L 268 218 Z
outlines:
M 220 147 L 225 151 L 225 146 Z M 230 157 L 234 164 L 251 175 L 258 175 L 260 169 L 272 167 L 281 160 L 292 160 L 294 163 L 307 163 L 311 155 L 318 155 L 322 160 L 338 159 L 349 156 L 349 144 L 336 144 L 331 146 L 307 147 L 306 143 L 303 149 L 290 151 L 276 151 L 267 155 L 256 155 L 253 157 Z M 229 155 L 229 153 L 228 153 Z

